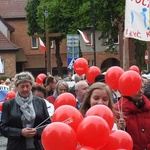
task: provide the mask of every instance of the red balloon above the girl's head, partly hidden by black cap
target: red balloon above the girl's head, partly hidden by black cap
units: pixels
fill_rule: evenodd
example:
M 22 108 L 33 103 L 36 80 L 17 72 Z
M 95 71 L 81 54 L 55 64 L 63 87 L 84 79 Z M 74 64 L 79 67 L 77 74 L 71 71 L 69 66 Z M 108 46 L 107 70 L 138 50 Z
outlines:
M 101 73 L 102 72 L 98 67 L 91 66 L 86 73 L 86 79 L 89 83 L 94 83 L 95 77 Z

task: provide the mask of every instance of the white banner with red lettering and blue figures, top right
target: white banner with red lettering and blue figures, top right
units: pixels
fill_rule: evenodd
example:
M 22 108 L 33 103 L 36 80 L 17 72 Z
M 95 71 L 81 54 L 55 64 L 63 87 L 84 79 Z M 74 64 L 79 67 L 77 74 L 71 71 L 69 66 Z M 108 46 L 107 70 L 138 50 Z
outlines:
M 126 0 L 124 37 L 150 41 L 150 0 Z

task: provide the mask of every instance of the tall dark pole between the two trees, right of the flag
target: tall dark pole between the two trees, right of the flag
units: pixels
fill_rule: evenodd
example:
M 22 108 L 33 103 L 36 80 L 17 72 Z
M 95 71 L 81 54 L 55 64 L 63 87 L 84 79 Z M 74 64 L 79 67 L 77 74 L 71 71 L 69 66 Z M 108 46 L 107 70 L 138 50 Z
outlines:
M 93 51 L 94 51 L 94 66 L 96 66 L 96 44 L 95 44 L 95 5 L 94 0 L 91 0 L 91 12 L 92 12 L 92 31 L 93 31 Z

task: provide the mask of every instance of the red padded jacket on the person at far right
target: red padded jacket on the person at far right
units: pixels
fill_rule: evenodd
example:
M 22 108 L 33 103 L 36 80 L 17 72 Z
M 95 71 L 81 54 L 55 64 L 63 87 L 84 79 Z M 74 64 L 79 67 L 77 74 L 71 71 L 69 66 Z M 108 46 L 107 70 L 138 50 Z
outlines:
M 145 105 L 141 109 L 124 97 L 115 103 L 115 108 L 123 111 L 126 131 L 133 139 L 133 150 L 150 150 L 150 101 L 145 96 L 143 101 Z

